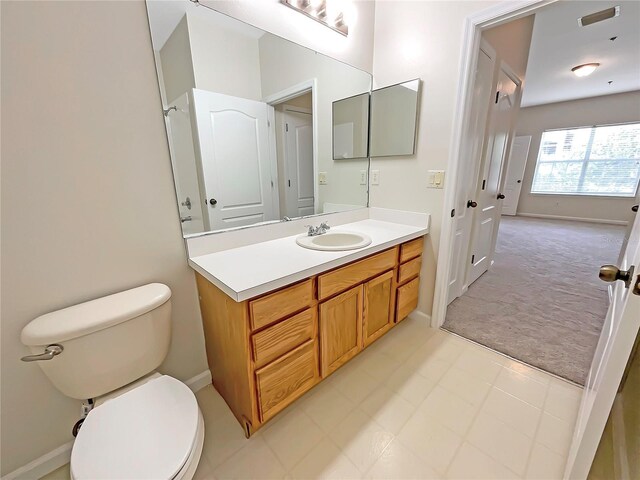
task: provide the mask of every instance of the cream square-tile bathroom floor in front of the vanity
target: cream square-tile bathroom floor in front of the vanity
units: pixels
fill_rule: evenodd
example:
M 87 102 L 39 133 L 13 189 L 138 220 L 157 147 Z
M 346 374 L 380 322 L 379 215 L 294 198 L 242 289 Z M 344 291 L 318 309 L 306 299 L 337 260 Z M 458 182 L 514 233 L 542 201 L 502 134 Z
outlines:
M 249 440 L 213 387 L 200 390 L 195 478 L 559 479 L 580 395 L 407 319 Z

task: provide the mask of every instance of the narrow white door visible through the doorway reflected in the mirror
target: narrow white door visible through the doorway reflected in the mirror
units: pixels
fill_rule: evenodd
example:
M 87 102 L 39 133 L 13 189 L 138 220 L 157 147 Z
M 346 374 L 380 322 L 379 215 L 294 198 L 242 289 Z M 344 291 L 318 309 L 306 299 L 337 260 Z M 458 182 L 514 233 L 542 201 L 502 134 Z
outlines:
M 313 117 L 302 109 L 286 109 L 283 117 L 286 215 L 313 215 Z

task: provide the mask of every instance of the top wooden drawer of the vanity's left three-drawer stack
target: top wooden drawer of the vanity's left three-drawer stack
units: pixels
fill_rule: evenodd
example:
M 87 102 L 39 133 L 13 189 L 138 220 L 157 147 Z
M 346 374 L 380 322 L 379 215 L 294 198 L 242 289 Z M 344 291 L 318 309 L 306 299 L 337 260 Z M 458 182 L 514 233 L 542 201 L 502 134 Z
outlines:
M 309 278 L 288 288 L 249 302 L 251 329 L 258 330 L 270 323 L 286 318 L 311 305 L 313 282 Z

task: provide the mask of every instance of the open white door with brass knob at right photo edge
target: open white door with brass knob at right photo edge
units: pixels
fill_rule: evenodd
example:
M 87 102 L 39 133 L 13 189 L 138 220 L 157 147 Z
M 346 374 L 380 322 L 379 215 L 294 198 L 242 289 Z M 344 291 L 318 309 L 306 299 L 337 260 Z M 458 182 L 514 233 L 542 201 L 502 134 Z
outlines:
M 628 287 L 620 280 L 612 285 L 613 295 L 582 396 L 565 478 L 587 477 L 640 328 L 640 215 L 633 222 L 617 266 L 623 271 L 633 268 L 634 272 Z

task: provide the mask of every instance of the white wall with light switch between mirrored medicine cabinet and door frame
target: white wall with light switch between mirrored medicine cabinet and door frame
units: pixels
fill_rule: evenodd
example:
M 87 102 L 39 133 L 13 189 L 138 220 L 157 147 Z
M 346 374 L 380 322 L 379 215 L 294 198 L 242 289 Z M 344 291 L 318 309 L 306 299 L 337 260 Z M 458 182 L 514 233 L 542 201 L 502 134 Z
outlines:
M 376 2 L 373 76 L 376 87 L 421 78 L 415 155 L 375 158 L 380 185 L 370 204 L 431 213 L 418 309 L 431 313 L 436 258 L 443 221 L 444 190 L 427 189 L 427 170 L 448 168 L 454 112 L 458 102 L 464 19 L 496 1 Z M 464 168 L 464 167 L 463 167 Z M 453 185 L 445 177 L 445 188 Z

